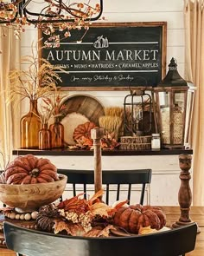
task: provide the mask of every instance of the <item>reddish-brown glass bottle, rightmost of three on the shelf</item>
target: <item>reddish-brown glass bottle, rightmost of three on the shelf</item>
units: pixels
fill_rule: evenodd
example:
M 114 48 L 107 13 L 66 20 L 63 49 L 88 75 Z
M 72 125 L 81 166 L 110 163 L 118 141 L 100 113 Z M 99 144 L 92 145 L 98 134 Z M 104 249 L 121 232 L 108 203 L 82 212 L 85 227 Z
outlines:
M 51 148 L 64 148 L 64 126 L 59 116 L 54 116 L 54 123 L 49 126 L 51 132 Z

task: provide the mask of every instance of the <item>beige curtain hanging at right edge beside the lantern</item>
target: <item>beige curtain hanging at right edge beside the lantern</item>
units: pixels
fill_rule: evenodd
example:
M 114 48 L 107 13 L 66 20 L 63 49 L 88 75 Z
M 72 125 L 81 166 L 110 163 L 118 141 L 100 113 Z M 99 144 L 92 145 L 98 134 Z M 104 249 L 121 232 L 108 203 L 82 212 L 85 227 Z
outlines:
M 197 87 L 190 141 L 193 156 L 193 204 L 204 205 L 204 0 L 185 0 L 186 79 Z

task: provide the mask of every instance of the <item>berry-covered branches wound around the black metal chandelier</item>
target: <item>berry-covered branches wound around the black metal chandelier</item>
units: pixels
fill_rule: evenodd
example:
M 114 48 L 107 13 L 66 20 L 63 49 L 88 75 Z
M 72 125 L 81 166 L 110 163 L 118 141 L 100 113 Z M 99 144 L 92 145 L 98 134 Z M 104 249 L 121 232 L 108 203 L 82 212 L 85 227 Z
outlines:
M 102 0 L 101 0 L 102 1 Z M 60 38 L 59 31 L 63 31 L 64 38 L 71 36 L 71 30 L 85 29 L 84 35 L 79 41 L 82 41 L 92 20 L 99 19 L 102 14 L 102 2 L 92 4 L 91 0 L 84 0 L 86 3 L 78 3 L 78 1 L 61 1 L 61 0 L 45 0 L 38 3 L 38 12 L 32 15 L 32 2 L 14 0 L 12 3 L 0 0 L 0 29 L 3 26 L 15 27 L 15 36 L 20 38 L 21 32 L 25 31 L 26 24 L 33 24 L 48 35 L 48 41 L 45 42 L 46 47 L 59 47 Z M 19 3 L 21 3 L 21 6 Z M 21 11 L 19 11 L 21 10 Z M 36 17 L 37 16 L 37 17 Z

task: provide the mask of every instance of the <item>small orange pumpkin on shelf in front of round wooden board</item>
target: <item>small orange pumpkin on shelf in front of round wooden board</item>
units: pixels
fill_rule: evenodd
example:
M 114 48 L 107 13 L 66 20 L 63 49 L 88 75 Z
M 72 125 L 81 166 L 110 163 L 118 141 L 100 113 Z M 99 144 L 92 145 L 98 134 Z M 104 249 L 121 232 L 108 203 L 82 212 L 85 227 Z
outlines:
M 92 121 L 86 121 L 85 123 L 78 125 L 78 127 L 73 131 L 73 140 L 77 141 L 81 137 L 91 139 L 91 129 L 95 127 L 96 125 Z

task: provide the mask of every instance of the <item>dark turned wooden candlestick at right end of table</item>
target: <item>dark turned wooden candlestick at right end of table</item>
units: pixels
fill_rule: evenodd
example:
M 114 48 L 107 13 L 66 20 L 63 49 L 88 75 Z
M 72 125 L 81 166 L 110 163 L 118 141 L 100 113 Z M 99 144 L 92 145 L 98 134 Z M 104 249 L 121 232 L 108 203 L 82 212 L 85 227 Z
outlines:
M 190 168 L 191 168 L 192 157 L 189 154 L 179 155 L 179 167 L 182 172 L 179 175 L 181 180 L 181 186 L 178 192 L 178 201 L 180 205 L 181 215 L 179 220 L 175 221 L 172 227 L 184 226 L 192 223 L 190 219 L 190 206 L 192 203 L 192 193 L 189 185 L 191 179 Z

